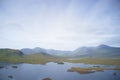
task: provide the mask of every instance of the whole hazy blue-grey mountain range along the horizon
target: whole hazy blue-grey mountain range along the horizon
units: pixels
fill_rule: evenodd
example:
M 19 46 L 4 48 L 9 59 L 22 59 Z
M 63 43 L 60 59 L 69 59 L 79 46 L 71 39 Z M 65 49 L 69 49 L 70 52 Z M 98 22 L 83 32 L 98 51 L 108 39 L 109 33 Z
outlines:
M 44 49 L 36 47 L 34 49 L 23 48 L 21 51 L 24 54 L 46 53 L 53 56 L 68 56 L 68 57 L 112 57 L 120 56 L 120 47 L 111 47 L 107 45 L 99 45 L 97 47 L 80 47 L 73 51 L 62 51 L 54 49 Z

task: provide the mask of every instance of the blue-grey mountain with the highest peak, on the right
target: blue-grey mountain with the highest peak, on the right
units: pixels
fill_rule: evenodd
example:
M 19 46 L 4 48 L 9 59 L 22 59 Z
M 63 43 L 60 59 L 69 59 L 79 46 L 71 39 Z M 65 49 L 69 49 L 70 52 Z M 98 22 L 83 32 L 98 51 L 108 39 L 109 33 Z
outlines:
M 82 47 L 74 50 L 72 56 L 85 56 L 85 57 L 120 56 L 120 48 L 110 47 L 103 44 L 97 47 Z

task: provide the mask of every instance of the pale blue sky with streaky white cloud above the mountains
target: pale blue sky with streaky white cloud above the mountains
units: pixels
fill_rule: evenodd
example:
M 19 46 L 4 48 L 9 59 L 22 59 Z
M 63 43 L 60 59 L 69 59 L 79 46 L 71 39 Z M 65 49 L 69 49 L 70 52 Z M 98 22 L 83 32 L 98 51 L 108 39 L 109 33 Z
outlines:
M 120 0 L 0 0 L 0 48 L 120 46 Z

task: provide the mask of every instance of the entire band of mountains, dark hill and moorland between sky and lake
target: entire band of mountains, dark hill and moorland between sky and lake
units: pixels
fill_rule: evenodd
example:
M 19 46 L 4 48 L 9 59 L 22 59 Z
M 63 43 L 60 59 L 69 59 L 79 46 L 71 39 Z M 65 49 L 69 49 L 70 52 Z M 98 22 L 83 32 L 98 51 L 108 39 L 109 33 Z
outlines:
M 29 55 L 28 55 L 29 54 Z M 107 45 L 80 47 L 74 51 L 61 51 L 43 48 L 0 49 L 0 62 L 40 63 L 81 62 L 89 64 L 120 65 L 120 48 Z

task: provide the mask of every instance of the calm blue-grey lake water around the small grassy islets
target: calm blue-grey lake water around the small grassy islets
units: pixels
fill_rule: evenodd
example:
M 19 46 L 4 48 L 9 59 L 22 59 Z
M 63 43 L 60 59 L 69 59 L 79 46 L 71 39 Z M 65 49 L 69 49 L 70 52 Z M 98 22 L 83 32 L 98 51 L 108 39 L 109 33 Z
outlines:
M 6 64 L 0 69 L 0 80 L 42 80 L 50 77 L 52 80 L 120 80 L 119 70 L 105 70 L 104 72 L 95 72 L 90 74 L 79 74 L 77 72 L 67 72 L 71 67 L 93 67 L 95 65 L 83 63 L 47 63 L 41 64 Z M 12 66 L 17 66 L 13 68 Z M 114 67 L 99 65 L 100 67 Z M 113 73 L 116 72 L 116 76 Z M 8 78 L 12 76 L 13 78 Z

